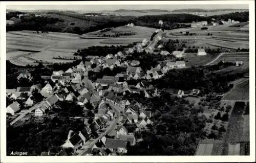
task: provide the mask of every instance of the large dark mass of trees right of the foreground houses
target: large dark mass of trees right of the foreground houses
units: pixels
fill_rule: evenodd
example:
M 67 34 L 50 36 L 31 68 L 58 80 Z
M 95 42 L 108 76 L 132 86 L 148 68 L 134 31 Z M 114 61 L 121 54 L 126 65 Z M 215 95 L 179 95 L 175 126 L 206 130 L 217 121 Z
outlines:
M 153 111 L 153 125 L 135 134 L 143 141 L 128 146 L 127 155 L 194 155 L 199 140 L 206 136 L 206 117 L 199 117 L 200 110 L 188 101 L 170 97 L 163 91 L 160 98 L 140 101 Z

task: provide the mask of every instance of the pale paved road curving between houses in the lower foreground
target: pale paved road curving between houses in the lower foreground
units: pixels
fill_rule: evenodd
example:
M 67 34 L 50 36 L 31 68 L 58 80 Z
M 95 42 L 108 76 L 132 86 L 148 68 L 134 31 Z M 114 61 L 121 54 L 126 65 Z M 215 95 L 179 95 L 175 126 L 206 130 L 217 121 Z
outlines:
M 106 134 L 112 132 L 112 130 L 115 129 L 116 124 L 117 124 L 118 121 L 119 121 L 119 116 L 120 116 L 119 110 L 120 110 L 120 109 L 119 109 L 117 106 L 114 106 L 114 105 L 112 105 L 112 104 L 110 104 L 110 106 L 112 107 L 112 109 L 113 109 L 114 112 L 115 112 L 115 116 L 114 116 L 114 117 L 116 117 L 116 119 L 114 118 L 114 120 L 111 122 L 110 126 L 109 126 L 108 128 L 106 128 L 106 130 L 105 130 L 103 133 L 101 133 L 93 142 L 90 143 L 90 141 L 88 141 L 88 143 L 90 143 L 90 144 L 89 144 L 89 145 L 86 144 L 86 146 L 82 147 L 82 148 L 84 148 L 84 150 L 81 151 L 78 155 L 86 155 L 87 152 L 88 152 L 88 150 L 92 149 L 93 146 L 99 141 L 99 139 L 100 139 L 101 137 L 103 137 L 104 135 L 106 135 Z

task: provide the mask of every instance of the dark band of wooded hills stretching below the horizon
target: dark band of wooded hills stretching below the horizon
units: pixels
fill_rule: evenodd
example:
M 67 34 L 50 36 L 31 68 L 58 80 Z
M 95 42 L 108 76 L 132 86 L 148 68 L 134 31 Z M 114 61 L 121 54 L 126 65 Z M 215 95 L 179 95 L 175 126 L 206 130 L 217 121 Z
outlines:
M 18 12 L 17 12 L 18 13 Z M 7 13 L 6 17 L 15 17 L 16 13 Z M 212 18 L 217 20 L 228 18 L 234 19 L 236 21 L 245 22 L 249 20 L 249 12 L 235 12 L 222 15 L 213 15 L 208 17 L 202 17 L 198 15 L 191 14 L 163 14 L 163 15 L 146 15 L 146 16 L 85 16 L 83 14 L 72 13 L 72 12 L 50 12 L 48 16 L 34 17 L 32 15 L 24 16 L 21 19 L 21 22 L 18 22 L 14 25 L 8 25 L 6 27 L 7 31 L 19 31 L 19 30 L 34 30 L 34 31 L 51 31 L 51 32 L 61 32 L 66 29 L 67 24 L 70 24 L 70 21 L 76 22 L 74 27 L 68 28 L 69 33 L 83 34 L 88 32 L 93 32 L 101 30 L 104 28 L 124 26 L 129 23 L 134 23 L 135 26 L 144 26 L 150 28 L 158 29 L 177 29 L 185 28 L 190 25 L 185 23 L 190 23 L 192 21 L 203 21 L 207 20 L 208 23 L 211 22 Z M 52 16 L 51 14 L 59 15 L 59 18 Z M 164 22 L 163 26 L 158 24 L 158 21 L 162 20 Z M 74 23 L 73 22 L 73 23 Z M 87 24 L 84 27 L 83 23 Z M 63 24 L 63 26 L 59 26 Z M 77 25 L 76 25 L 77 24 Z

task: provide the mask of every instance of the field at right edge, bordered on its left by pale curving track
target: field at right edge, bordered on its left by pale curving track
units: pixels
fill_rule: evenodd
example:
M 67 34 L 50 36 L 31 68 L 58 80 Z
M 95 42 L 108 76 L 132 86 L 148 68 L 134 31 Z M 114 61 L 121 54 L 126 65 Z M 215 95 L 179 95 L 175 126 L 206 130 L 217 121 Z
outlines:
M 249 64 L 249 53 L 225 53 L 212 62 L 212 64 L 217 64 L 223 60 L 227 62 L 243 61 L 247 65 Z

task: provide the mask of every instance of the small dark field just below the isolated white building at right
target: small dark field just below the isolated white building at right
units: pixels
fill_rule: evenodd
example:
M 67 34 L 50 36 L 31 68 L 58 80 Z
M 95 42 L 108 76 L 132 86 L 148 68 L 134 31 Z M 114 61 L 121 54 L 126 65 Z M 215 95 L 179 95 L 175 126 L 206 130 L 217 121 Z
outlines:
M 214 60 L 216 56 L 197 56 L 196 54 L 184 55 L 187 66 L 199 66 L 209 63 Z

